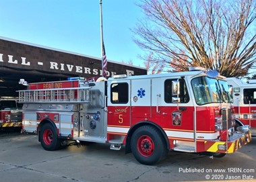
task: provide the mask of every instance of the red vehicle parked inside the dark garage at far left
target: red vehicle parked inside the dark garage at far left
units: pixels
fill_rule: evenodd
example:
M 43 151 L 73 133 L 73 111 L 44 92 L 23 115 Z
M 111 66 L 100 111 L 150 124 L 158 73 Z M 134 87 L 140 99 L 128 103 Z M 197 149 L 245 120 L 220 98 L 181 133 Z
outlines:
M 22 104 L 12 97 L 0 98 L 0 128 L 22 127 Z

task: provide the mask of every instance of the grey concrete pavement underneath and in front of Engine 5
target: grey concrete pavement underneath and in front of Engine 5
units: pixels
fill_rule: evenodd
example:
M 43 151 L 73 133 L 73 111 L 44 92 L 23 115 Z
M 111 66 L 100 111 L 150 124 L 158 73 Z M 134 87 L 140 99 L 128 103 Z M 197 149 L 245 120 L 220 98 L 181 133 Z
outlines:
M 108 144 L 49 152 L 37 136 L 0 130 L 1 181 L 256 181 L 256 140 L 223 158 L 169 152 L 155 166 Z

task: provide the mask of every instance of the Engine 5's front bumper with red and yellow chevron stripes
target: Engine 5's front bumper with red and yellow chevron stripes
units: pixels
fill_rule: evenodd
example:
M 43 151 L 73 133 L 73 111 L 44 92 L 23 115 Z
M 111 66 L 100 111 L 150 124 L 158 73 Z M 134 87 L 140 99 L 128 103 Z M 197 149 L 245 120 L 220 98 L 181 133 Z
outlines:
M 214 153 L 234 153 L 236 150 L 245 146 L 251 142 L 251 132 L 247 134 L 241 134 L 240 132 L 234 132 L 232 136 L 228 138 L 228 142 L 220 140 L 205 141 L 205 151 Z

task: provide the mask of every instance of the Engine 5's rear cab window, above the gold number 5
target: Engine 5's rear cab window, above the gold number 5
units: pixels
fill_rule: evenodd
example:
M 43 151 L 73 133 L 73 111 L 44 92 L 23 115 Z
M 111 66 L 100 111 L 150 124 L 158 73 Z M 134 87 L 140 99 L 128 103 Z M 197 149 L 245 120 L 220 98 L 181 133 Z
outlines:
M 110 86 L 111 103 L 128 103 L 128 83 L 113 83 Z

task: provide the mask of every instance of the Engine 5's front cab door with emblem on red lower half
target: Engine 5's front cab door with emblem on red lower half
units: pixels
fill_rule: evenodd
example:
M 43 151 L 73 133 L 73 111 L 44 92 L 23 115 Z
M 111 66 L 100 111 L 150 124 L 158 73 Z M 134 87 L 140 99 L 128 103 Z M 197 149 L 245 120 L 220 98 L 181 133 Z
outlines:
M 193 140 L 194 107 L 185 79 L 162 78 L 161 81 L 155 80 L 154 82 L 159 85 L 154 95 L 160 95 L 155 98 L 156 111 L 158 111 L 156 114 L 161 121 L 160 126 L 168 131 L 169 137 Z

